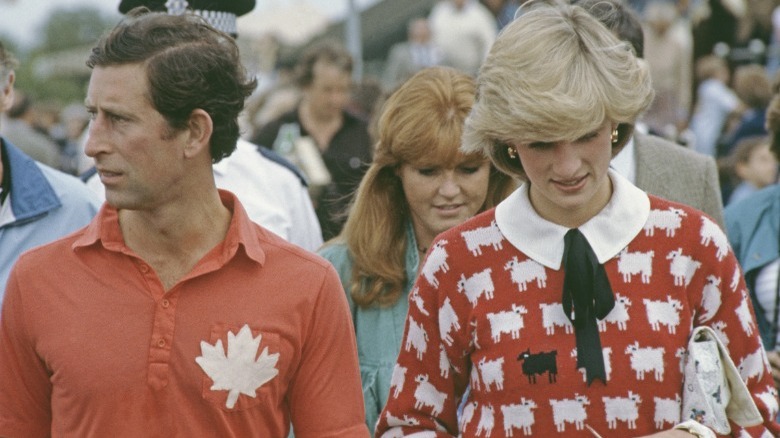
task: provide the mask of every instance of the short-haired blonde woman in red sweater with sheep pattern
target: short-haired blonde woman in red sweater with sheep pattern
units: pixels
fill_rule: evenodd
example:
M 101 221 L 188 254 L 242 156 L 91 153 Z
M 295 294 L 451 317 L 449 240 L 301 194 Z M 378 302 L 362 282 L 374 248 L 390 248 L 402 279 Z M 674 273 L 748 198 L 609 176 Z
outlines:
M 681 412 L 699 325 L 764 419 L 732 435 L 777 436 L 725 235 L 609 170 L 652 100 L 646 66 L 579 7 L 528 9 L 480 71 L 463 146 L 525 184 L 429 250 L 376 436 L 715 436 Z

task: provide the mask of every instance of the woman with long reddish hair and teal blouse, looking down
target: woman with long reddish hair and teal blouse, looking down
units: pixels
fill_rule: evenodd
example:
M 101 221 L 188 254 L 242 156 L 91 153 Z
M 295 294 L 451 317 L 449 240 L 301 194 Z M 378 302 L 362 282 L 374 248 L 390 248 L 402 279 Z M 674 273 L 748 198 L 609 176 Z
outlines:
M 433 67 L 389 97 L 374 161 L 346 225 L 319 251 L 336 267 L 347 292 L 371 430 L 390 393 L 409 293 L 431 242 L 515 188 L 481 154 L 459 151 L 474 92 L 467 74 Z M 411 302 L 416 298 L 412 292 Z

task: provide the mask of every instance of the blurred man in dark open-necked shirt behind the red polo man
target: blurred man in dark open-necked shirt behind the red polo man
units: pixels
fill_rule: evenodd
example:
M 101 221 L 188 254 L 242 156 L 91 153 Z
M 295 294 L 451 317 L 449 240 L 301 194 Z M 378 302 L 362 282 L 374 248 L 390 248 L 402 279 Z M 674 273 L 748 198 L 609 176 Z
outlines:
M 350 197 L 371 161 L 368 125 L 345 110 L 352 86 L 352 57 L 340 44 L 306 49 L 296 67 L 301 100 L 260 128 L 253 143 L 291 157 L 307 174 L 325 240 L 346 220 Z

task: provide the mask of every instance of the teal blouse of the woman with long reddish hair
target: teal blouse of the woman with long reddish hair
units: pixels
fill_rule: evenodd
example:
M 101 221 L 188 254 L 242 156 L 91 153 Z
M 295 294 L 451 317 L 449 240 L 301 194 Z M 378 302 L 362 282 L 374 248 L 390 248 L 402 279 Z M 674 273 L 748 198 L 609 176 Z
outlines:
M 360 361 L 360 377 L 363 382 L 363 402 L 366 408 L 366 424 L 373 431 L 379 414 L 390 393 L 390 378 L 393 374 L 401 340 L 404 334 L 406 311 L 409 309 L 409 291 L 417 278 L 420 257 L 411 223 L 406 231 L 406 284 L 403 295 L 390 307 L 357 306 L 349 293 L 352 278 L 352 255 L 343 243 L 321 248 L 318 253 L 330 261 L 347 291 L 347 300 L 352 312 Z

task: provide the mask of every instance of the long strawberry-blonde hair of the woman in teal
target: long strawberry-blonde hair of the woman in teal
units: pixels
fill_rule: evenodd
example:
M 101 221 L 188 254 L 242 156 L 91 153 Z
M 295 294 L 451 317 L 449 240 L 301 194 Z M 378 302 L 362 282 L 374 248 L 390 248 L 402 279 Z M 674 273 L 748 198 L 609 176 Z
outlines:
M 396 171 L 404 163 L 454 166 L 468 158 L 459 146 L 474 90 L 468 75 L 433 67 L 412 76 L 385 102 L 373 162 L 336 239 L 352 256 L 348 292 L 359 306 L 392 305 L 403 293 L 410 213 Z M 511 178 L 491 166 L 480 211 L 494 207 L 514 188 Z

